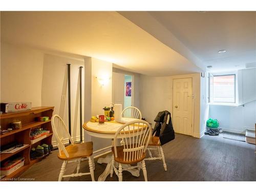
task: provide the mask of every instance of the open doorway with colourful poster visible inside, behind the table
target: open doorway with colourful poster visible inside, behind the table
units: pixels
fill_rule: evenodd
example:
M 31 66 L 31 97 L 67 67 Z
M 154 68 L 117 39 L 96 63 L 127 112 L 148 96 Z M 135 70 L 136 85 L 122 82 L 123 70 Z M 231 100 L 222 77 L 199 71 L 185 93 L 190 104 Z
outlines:
M 133 106 L 133 75 L 113 72 L 112 76 L 112 102 L 122 104 L 122 110 Z

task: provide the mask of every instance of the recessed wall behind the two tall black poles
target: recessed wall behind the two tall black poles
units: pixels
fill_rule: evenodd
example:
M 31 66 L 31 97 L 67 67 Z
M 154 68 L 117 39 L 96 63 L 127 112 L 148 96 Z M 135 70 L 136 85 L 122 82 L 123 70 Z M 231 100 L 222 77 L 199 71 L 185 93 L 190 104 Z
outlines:
M 42 76 L 42 105 L 54 106 L 53 114 L 58 114 L 68 127 L 68 67 L 70 66 L 71 84 L 71 137 L 74 141 L 80 140 L 79 118 L 79 67 L 84 66 L 83 60 L 45 54 Z M 82 93 L 84 90 L 84 70 L 82 69 Z M 82 94 L 82 111 L 83 111 Z M 83 122 L 83 114 L 82 114 Z M 82 131 L 83 133 L 83 131 Z M 66 136 L 66 138 L 68 138 Z M 53 137 L 53 144 L 55 138 Z

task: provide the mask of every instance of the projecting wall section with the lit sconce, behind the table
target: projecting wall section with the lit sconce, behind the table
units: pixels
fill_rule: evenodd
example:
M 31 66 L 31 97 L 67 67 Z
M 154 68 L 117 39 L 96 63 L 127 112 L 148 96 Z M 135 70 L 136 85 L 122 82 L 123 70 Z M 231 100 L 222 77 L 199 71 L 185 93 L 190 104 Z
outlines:
M 89 121 L 91 116 L 103 115 L 104 106 L 110 106 L 112 102 L 112 63 L 96 58 L 84 58 L 85 70 L 85 102 L 84 121 Z M 104 86 L 98 82 L 97 78 L 110 78 Z M 86 134 L 86 140 L 93 141 L 94 151 L 110 146 L 110 139 L 91 137 Z

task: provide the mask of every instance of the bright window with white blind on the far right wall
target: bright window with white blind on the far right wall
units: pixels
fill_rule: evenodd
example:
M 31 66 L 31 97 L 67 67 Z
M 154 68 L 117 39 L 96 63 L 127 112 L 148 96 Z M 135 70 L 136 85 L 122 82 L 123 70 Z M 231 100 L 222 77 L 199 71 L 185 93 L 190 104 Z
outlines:
M 211 103 L 236 103 L 236 75 L 211 75 L 209 88 Z

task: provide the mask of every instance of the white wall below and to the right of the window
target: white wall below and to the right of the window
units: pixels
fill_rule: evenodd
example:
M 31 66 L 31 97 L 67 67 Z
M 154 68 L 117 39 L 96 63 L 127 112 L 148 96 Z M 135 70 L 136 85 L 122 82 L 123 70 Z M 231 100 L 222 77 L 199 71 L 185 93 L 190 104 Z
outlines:
M 255 129 L 256 69 L 238 70 L 238 97 L 240 106 L 210 105 L 209 117 L 218 119 L 226 131 L 244 133 Z

